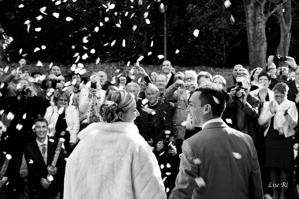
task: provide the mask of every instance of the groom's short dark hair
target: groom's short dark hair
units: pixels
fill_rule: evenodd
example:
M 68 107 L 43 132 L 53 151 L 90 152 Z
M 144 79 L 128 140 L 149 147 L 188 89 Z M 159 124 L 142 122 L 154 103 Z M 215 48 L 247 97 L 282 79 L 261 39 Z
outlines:
M 201 86 L 194 90 L 194 92 L 196 91 L 202 92 L 199 95 L 201 106 L 203 107 L 206 104 L 210 104 L 213 117 L 221 117 L 226 106 L 226 100 L 222 90 L 217 86 Z

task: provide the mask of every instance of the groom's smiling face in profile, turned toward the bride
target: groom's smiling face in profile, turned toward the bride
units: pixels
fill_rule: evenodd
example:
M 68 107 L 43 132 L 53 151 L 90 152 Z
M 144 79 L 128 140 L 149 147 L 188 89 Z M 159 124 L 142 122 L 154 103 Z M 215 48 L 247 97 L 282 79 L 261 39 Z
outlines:
M 199 95 L 201 91 L 194 92 L 189 99 L 189 106 L 186 109 L 186 112 L 189 112 L 191 123 L 194 127 L 202 126 L 202 117 L 204 107 L 201 105 L 201 101 L 199 100 Z

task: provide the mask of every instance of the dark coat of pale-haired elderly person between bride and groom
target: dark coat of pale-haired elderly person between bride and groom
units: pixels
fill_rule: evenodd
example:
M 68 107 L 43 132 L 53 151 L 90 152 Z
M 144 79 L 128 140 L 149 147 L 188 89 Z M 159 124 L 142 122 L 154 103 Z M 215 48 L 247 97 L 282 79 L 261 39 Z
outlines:
M 156 114 L 153 115 L 150 127 L 148 127 L 148 115 L 147 113 L 140 110 L 138 129 L 145 141 L 149 141 L 150 138 L 153 139 L 154 144 L 160 141 L 164 137 L 164 130 L 172 130 L 172 108 L 168 104 L 158 102 L 156 109 Z M 148 133 L 149 128 L 154 128 L 154 133 Z

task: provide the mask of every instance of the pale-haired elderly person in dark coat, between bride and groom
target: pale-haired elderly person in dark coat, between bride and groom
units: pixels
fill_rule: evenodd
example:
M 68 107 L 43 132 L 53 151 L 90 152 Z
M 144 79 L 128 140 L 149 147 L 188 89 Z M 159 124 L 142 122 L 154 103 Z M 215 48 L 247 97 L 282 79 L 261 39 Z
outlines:
M 161 101 L 159 89 L 153 84 L 145 90 L 145 97 L 148 100 L 140 110 L 139 131 L 149 145 L 155 146 L 158 141 L 164 138 L 164 131 L 173 128 L 172 108 Z

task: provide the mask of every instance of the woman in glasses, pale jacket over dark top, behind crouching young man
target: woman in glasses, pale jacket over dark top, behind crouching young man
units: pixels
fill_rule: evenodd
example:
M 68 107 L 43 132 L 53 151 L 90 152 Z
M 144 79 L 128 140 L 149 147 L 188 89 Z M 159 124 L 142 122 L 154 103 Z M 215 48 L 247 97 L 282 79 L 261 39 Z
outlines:
M 54 106 L 47 108 L 44 118 L 55 137 L 63 137 L 64 147 L 69 155 L 77 140 L 80 128 L 79 114 L 75 106 L 69 106 L 69 91 L 58 91 L 54 95 Z

